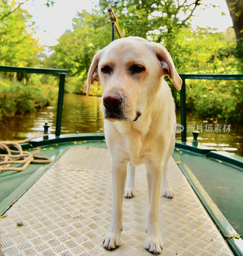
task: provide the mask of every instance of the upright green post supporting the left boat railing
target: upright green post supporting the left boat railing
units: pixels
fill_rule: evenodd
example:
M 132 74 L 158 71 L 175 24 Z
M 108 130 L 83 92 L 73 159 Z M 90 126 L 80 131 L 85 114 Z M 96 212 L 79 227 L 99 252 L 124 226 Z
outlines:
M 56 109 L 56 131 L 55 131 L 56 136 L 60 136 L 60 134 L 61 134 L 62 115 L 63 115 L 64 83 L 65 83 L 65 75 L 60 75 L 58 102 L 57 102 L 57 109 Z

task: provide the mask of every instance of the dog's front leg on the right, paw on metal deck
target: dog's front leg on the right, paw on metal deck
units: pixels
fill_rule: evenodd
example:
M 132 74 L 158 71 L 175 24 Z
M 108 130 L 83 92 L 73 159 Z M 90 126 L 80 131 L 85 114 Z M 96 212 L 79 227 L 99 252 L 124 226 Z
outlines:
M 145 249 L 151 253 L 161 253 L 163 242 L 159 231 L 159 199 L 161 192 L 163 164 L 148 163 L 147 183 L 149 193 L 149 216 Z

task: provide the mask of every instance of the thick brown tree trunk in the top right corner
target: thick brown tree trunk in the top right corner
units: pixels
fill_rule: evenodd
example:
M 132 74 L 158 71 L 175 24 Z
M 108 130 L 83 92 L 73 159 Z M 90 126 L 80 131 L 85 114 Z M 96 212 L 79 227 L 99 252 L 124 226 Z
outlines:
M 237 40 L 237 55 L 243 59 L 243 0 L 226 0 Z

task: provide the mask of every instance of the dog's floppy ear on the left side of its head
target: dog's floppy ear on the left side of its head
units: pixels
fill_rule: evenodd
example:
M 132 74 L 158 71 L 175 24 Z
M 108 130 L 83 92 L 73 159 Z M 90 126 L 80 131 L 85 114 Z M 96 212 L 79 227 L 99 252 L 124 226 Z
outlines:
M 86 96 L 89 96 L 90 85 L 94 84 L 94 82 L 99 82 L 99 73 L 98 73 L 98 64 L 101 57 L 102 50 L 96 52 L 91 62 L 87 81 L 85 83 Z

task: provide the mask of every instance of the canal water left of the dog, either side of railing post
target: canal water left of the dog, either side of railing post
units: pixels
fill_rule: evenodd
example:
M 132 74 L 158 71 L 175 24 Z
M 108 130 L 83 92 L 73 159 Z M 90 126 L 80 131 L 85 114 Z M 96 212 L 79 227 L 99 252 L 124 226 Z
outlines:
M 1 124 L 0 140 L 21 140 L 43 131 L 45 121 L 55 132 L 56 105 L 41 108 L 23 116 L 15 116 Z M 104 131 L 98 97 L 65 93 L 61 133 Z

